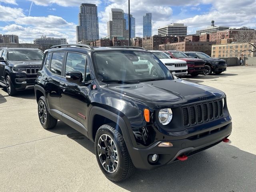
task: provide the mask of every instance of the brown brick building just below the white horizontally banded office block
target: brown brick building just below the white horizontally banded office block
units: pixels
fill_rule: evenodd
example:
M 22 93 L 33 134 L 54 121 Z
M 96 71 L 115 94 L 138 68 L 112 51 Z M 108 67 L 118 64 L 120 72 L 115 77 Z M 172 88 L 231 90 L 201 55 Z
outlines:
M 151 37 L 144 37 L 142 40 L 142 46 L 147 50 L 158 50 L 160 44 L 167 44 L 167 43 L 174 43 L 174 42 L 178 42 L 177 37 L 154 35 Z

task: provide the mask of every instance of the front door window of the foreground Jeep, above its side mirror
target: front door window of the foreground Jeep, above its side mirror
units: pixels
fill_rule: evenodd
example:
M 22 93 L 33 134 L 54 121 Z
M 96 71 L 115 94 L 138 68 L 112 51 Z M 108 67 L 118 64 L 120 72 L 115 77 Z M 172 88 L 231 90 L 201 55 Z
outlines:
M 86 55 L 80 53 L 68 53 L 66 62 L 66 73 L 71 71 L 79 71 L 82 73 L 85 81 Z M 87 72 L 87 71 L 86 71 Z

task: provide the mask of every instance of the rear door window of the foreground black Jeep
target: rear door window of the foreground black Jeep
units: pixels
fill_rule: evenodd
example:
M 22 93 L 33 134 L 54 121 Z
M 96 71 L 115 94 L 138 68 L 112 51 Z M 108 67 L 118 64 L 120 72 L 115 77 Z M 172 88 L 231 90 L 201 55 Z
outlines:
M 50 71 L 52 73 L 61 75 L 64 56 L 65 52 L 55 52 L 52 54 L 52 61 L 50 66 Z

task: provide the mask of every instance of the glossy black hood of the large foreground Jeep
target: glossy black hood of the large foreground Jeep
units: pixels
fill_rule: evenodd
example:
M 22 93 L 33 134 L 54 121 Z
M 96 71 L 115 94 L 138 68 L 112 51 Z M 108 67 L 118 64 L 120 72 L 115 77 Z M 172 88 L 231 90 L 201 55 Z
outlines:
M 178 80 L 160 80 L 139 84 L 108 84 L 108 88 L 123 96 L 138 98 L 158 106 L 182 105 L 224 97 L 224 92 L 208 86 Z

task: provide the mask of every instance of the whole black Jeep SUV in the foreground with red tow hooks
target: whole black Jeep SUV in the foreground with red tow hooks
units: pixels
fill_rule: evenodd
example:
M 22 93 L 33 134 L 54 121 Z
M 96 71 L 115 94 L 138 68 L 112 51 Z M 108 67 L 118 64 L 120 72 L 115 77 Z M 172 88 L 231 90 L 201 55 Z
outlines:
M 145 63 L 156 72 L 136 70 Z M 134 167 L 186 160 L 228 142 L 232 130 L 224 92 L 173 76 L 143 48 L 54 46 L 44 55 L 35 94 L 42 126 L 61 120 L 88 137 L 113 181 Z

